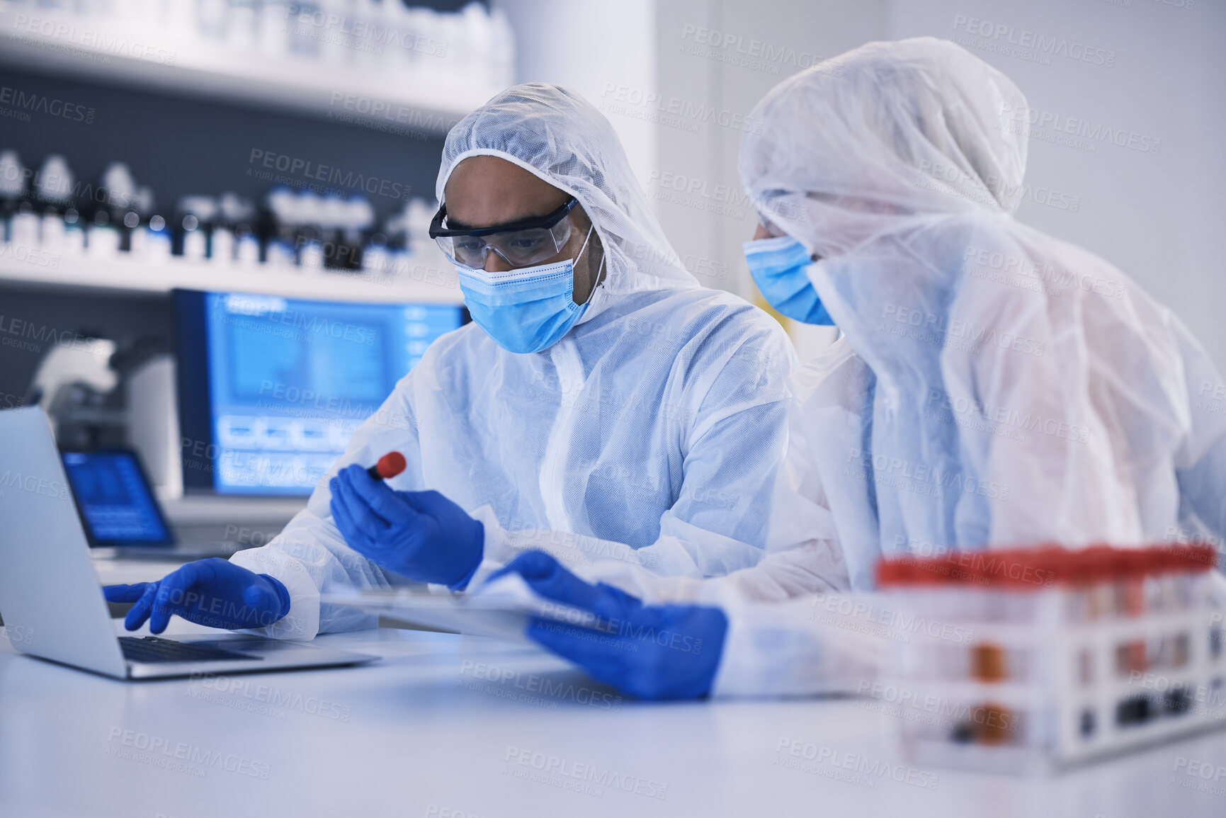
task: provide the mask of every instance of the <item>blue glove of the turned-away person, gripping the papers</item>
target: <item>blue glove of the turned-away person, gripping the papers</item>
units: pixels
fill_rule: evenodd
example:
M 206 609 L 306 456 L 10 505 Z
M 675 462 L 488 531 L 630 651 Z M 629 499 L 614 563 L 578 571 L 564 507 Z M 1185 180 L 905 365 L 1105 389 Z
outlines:
M 723 611 L 644 605 L 612 585 L 588 585 L 543 551 L 520 554 L 489 579 L 511 571 L 541 596 L 593 614 L 596 630 L 548 619 L 527 628 L 530 639 L 593 679 L 639 699 L 696 699 L 711 692 L 728 632 Z

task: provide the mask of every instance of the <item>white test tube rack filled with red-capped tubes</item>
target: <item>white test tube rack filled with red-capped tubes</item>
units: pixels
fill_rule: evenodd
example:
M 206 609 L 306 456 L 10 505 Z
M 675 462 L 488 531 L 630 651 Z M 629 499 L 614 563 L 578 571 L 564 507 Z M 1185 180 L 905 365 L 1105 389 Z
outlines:
M 1041 546 L 883 559 L 878 586 L 900 610 L 954 625 L 893 649 L 904 754 L 1041 773 L 1226 725 L 1215 556 Z

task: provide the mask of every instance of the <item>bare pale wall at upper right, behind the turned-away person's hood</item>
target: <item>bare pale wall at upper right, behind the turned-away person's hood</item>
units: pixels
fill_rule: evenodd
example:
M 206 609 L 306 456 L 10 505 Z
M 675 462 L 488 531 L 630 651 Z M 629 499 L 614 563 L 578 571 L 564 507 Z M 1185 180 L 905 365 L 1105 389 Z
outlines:
M 1127 5 L 1124 5 L 1127 4 Z M 1175 5 L 1182 4 L 1182 5 Z M 1188 5 L 1192 7 L 1187 7 Z M 1133 147 L 1058 145 L 1032 135 L 1031 190 L 1065 194 L 1076 212 L 1024 201 L 1019 218 L 1106 258 L 1168 304 L 1226 369 L 1226 2 L 1221 0 L 890 0 L 891 38 L 967 37 L 975 17 L 1045 39 L 1089 45 L 1095 60 L 1049 64 L 988 50 L 1009 36 L 973 37 L 970 50 L 1008 74 L 1040 115 L 1076 131 L 1110 126 Z M 959 22 L 955 29 L 955 21 Z M 982 26 L 982 23 L 980 23 Z M 986 28 L 983 29 L 986 31 Z M 997 31 L 997 29 L 993 29 Z M 1080 49 L 1076 49 L 1080 53 Z M 1100 131 L 1102 132 L 1102 131 Z M 1137 150 L 1160 140 L 1157 152 Z M 1063 202 L 1064 199 L 1058 199 Z

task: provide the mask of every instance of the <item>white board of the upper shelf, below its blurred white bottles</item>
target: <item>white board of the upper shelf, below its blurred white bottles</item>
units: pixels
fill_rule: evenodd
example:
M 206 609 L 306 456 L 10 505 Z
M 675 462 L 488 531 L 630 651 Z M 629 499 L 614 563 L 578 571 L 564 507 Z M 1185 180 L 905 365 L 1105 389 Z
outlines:
M 186 0 L 184 0 L 186 1 Z M 489 98 L 451 72 L 371 71 L 0 0 L 0 64 L 175 96 L 255 104 L 418 139 L 443 135 Z

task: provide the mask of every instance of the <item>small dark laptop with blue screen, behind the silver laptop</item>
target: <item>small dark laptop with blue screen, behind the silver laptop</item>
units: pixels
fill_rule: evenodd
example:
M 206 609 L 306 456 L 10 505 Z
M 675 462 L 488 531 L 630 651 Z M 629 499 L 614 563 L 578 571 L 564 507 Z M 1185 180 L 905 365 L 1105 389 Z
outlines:
M 235 542 L 177 543 L 135 451 L 72 450 L 60 456 L 93 556 L 184 562 L 230 557 L 242 548 Z

